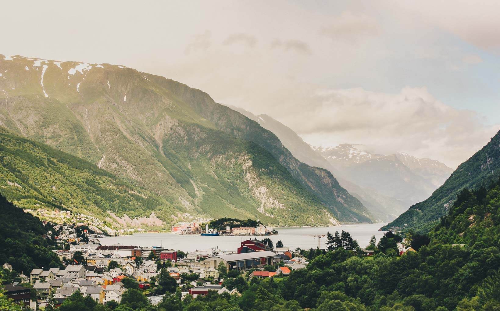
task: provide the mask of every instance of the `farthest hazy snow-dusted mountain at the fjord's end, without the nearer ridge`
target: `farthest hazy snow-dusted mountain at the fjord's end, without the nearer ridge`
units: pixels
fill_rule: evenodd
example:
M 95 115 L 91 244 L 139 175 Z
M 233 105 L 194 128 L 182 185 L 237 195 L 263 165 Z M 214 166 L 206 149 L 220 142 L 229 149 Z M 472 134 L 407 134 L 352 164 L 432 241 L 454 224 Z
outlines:
M 349 143 L 313 148 L 328 160 L 339 176 L 372 196 L 381 195 L 379 203 L 391 206 L 390 210 L 396 216 L 428 197 L 452 171 L 439 161 L 417 158 L 404 152 L 371 153 L 361 145 Z

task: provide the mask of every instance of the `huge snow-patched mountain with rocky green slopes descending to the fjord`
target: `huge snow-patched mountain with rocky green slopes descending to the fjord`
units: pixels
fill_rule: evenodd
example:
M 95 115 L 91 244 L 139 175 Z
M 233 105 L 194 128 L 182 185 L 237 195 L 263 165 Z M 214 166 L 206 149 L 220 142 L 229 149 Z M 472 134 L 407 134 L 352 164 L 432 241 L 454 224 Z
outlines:
M 371 220 L 329 171 L 198 89 L 121 65 L 0 56 L 0 71 L 0 125 L 154 193 L 178 214 L 271 225 Z

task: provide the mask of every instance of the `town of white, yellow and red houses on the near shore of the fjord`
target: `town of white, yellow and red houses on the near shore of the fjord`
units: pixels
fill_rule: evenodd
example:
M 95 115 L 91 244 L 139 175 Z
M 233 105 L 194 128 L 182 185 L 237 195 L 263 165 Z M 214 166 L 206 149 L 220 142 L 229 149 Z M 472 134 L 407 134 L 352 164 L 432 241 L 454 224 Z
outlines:
M 71 232 L 70 239 L 76 234 L 66 225 L 60 229 Z M 88 231 L 83 234 L 96 235 Z M 208 291 L 241 295 L 238 288 L 244 287 L 234 284 L 235 279 L 246 284 L 254 277 L 282 278 L 308 264 L 305 257 L 295 256 L 289 247 L 269 247 L 258 239 L 243 240 L 232 251 L 210 248 L 183 252 L 162 246 L 80 242 L 53 252 L 66 264 L 65 268 L 23 271 L 17 281 L 3 285 L 8 298 L 22 309 L 57 307 L 75 292 L 98 303 L 119 303 L 128 288 L 143 291 L 152 304 L 172 292 L 180 292 L 182 298 L 203 296 Z M 11 271 L 12 267 L 5 262 L 3 269 Z

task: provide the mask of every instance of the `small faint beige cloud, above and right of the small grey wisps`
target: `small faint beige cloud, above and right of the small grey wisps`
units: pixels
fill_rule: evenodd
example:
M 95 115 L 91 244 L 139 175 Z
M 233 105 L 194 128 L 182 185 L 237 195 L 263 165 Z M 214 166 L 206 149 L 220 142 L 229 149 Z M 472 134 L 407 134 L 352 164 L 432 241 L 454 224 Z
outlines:
M 323 29 L 320 33 L 332 40 L 357 41 L 362 37 L 378 34 L 380 27 L 377 21 L 365 14 L 353 14 L 343 11 L 338 17 Z

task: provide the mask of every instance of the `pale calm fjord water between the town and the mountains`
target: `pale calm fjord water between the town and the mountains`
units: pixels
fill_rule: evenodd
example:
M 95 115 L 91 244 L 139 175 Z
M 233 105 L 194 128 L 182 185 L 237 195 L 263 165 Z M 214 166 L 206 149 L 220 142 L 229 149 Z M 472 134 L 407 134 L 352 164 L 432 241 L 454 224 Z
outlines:
M 300 247 L 308 249 L 317 247 L 317 235 L 326 234 L 326 232 L 334 233 L 335 231 L 347 231 L 352 238 L 357 240 L 359 246 L 365 247 L 368 245 L 370 237 L 375 234 L 377 240 L 383 235 L 384 231 L 378 231 L 378 228 L 383 223 L 362 223 L 362 224 L 343 224 L 334 227 L 286 227 L 276 228 L 279 234 L 270 235 L 269 237 L 274 245 L 278 240 L 283 242 L 285 247 L 295 249 Z M 316 236 L 314 236 L 316 235 Z M 212 247 L 218 247 L 222 250 L 236 250 L 239 247 L 241 239 L 247 238 L 263 238 L 259 236 L 201 236 L 201 235 L 180 235 L 174 233 L 134 233 L 133 235 L 106 236 L 100 238 L 102 245 L 112 245 L 119 243 L 121 245 L 133 246 L 159 246 L 166 248 L 179 249 L 182 251 L 204 250 Z M 321 237 L 319 242 L 320 248 L 325 248 L 326 237 Z

